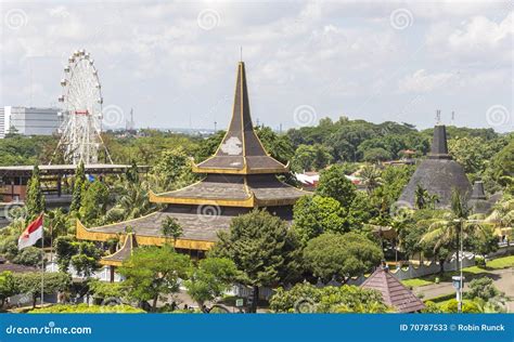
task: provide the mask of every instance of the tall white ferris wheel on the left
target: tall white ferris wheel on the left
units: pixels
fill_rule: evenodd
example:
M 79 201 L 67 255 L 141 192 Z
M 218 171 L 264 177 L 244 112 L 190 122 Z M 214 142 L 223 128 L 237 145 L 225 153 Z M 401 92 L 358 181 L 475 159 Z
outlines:
M 61 80 L 63 94 L 59 97 L 62 124 L 57 149 L 63 149 L 64 159 L 72 165 L 99 162 L 102 142 L 102 87 L 94 61 L 89 52 L 77 50 L 68 57 Z M 105 155 L 111 156 L 105 149 Z

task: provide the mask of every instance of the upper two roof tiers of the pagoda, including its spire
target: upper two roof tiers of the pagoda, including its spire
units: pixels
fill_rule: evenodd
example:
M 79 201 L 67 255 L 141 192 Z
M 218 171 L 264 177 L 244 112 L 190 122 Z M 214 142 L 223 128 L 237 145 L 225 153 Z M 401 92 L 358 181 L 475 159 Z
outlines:
M 198 183 L 179 190 L 151 194 L 152 202 L 202 205 L 206 200 L 227 207 L 291 206 L 305 192 L 280 182 L 275 174 L 288 167 L 266 153 L 255 133 L 249 114 L 246 71 L 237 66 L 232 120 L 215 155 L 193 166 L 193 172 L 206 173 Z

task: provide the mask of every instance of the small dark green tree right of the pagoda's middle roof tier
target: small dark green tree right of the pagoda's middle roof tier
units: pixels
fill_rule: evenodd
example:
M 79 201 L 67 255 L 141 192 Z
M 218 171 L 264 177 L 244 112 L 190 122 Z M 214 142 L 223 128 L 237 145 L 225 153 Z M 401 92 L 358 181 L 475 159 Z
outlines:
M 333 165 L 321 171 L 316 194 L 323 197 L 332 197 L 336 199 L 343 208 L 349 208 L 356 197 L 357 188 L 354 183 L 346 177 L 345 171 L 342 165 Z

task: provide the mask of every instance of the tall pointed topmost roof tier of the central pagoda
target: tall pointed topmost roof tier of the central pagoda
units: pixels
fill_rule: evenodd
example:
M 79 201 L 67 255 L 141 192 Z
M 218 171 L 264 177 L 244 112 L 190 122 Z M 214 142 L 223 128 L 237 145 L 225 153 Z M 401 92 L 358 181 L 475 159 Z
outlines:
M 197 172 L 279 173 L 287 168 L 268 156 L 254 131 L 244 62 L 237 64 L 232 119 L 216 154 L 201 162 Z M 208 169 L 203 171 L 202 169 Z

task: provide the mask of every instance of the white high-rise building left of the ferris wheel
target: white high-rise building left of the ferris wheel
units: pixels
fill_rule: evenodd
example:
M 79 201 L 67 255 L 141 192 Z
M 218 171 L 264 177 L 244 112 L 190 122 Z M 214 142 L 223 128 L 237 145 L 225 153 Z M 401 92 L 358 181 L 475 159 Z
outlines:
M 52 135 L 61 124 L 57 108 L 0 108 L 0 139 L 11 131 L 22 135 Z

